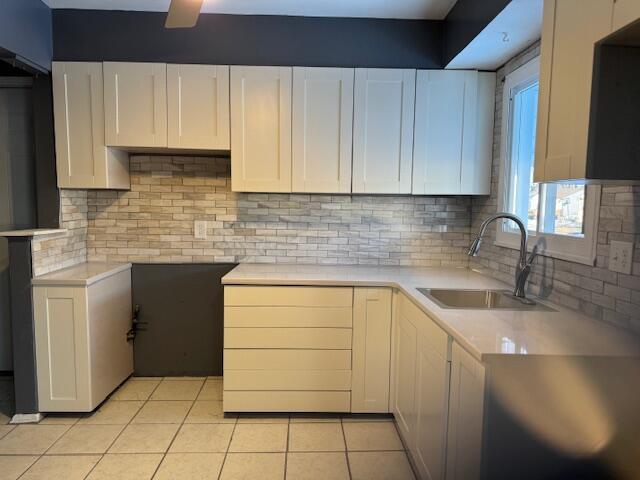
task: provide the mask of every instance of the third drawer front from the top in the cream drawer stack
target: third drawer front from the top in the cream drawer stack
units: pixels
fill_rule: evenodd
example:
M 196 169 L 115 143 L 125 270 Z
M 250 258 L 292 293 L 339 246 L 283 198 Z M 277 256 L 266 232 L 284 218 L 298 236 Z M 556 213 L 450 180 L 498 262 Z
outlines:
M 225 348 L 351 349 L 350 328 L 225 328 Z

